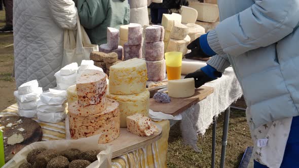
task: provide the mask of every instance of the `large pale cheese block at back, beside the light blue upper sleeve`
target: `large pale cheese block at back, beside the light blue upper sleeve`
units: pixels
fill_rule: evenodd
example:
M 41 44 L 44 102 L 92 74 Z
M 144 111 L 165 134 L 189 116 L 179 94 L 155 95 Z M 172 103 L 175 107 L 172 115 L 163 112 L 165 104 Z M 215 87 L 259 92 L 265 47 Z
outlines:
M 198 12 L 197 20 L 203 22 L 216 22 L 219 18 L 218 5 L 207 3 L 190 3 L 189 7 Z

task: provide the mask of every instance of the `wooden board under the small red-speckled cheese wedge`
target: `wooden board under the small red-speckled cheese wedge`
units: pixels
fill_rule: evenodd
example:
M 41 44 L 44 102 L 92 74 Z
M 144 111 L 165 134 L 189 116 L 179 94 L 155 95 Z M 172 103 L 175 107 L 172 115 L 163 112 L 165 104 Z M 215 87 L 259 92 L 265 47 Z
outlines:
M 162 137 L 162 128 L 158 124 L 156 125 L 159 132 L 149 137 L 139 137 L 138 135 L 128 132 L 127 128 L 121 128 L 120 137 L 106 144 L 112 146 L 112 158 L 132 152 L 158 141 Z

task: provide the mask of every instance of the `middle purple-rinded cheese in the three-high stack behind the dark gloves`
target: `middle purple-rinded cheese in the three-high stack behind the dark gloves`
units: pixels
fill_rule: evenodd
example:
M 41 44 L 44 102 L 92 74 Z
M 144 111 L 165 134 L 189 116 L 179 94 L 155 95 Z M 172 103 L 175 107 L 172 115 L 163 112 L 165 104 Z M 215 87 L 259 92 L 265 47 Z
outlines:
M 161 61 L 164 58 L 164 42 L 145 43 L 145 60 Z

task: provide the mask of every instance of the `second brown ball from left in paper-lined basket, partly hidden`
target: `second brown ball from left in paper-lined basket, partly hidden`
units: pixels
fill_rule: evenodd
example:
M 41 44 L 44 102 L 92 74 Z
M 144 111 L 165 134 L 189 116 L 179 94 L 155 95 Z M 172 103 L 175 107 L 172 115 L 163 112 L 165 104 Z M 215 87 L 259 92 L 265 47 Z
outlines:
M 36 161 L 33 165 L 35 168 L 47 168 L 47 164 L 53 158 L 59 156 L 56 150 L 46 150 L 36 156 Z

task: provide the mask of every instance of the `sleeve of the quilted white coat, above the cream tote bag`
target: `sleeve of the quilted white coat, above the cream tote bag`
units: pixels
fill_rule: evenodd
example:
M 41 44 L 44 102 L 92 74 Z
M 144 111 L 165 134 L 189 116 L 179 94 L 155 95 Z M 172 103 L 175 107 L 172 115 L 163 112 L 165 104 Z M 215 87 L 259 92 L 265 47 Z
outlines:
M 47 1 L 56 24 L 65 29 L 77 27 L 77 9 L 72 0 Z

